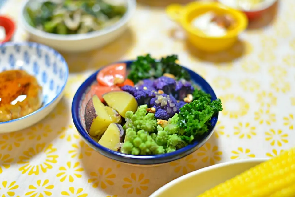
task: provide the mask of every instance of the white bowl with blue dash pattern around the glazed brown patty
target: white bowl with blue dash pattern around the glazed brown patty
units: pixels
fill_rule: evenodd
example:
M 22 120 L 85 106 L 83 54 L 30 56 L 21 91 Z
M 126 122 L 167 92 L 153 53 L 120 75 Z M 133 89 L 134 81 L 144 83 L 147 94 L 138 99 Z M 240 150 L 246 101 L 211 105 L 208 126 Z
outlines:
M 56 50 L 34 42 L 6 42 L 0 45 L 0 72 L 26 70 L 43 87 L 40 109 L 22 118 L 0 122 L 0 133 L 22 130 L 48 115 L 62 98 L 69 70 Z

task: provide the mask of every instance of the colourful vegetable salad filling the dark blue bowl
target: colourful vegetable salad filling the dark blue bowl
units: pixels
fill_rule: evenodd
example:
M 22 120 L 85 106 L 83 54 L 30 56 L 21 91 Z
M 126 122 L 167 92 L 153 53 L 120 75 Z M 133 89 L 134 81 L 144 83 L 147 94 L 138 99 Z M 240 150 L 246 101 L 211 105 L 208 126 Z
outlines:
M 195 88 L 172 55 L 140 56 L 129 74 L 124 63 L 107 66 L 92 85 L 86 129 L 104 147 L 131 155 L 176 151 L 209 131 L 220 99 Z

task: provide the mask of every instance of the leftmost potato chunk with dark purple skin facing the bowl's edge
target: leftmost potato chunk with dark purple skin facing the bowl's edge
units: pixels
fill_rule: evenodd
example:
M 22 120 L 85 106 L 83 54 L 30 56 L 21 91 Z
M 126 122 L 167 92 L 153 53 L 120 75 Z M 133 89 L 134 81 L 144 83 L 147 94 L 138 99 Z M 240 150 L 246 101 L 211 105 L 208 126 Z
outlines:
M 89 135 L 100 137 L 113 122 L 100 99 L 94 95 L 85 108 L 85 125 Z

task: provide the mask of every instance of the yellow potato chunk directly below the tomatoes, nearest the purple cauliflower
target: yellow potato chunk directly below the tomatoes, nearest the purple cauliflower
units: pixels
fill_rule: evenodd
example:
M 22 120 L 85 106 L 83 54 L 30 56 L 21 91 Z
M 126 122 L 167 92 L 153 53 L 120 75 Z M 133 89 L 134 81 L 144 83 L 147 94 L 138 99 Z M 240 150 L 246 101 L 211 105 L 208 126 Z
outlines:
M 127 111 L 135 112 L 137 110 L 136 99 L 128 92 L 114 91 L 106 93 L 102 96 L 109 107 L 112 107 L 125 118 Z

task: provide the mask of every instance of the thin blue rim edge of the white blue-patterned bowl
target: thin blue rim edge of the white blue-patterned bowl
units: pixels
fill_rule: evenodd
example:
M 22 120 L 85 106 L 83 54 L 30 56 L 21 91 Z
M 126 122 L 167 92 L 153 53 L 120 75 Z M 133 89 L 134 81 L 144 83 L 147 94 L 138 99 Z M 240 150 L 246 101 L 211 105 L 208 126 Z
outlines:
M 66 75 L 65 75 L 65 83 L 63 84 L 63 86 L 61 87 L 61 89 L 59 90 L 59 92 L 56 94 L 56 96 L 49 103 L 47 103 L 45 105 L 42 105 L 36 111 L 33 111 L 32 113 L 30 113 L 28 115 L 25 115 L 25 116 L 23 116 L 21 118 L 17 118 L 17 119 L 5 121 L 5 122 L 0 122 L 0 125 L 1 124 L 13 123 L 15 121 L 18 121 L 18 120 L 21 120 L 21 119 L 25 119 L 25 118 L 27 118 L 27 117 L 29 117 L 31 115 L 34 115 L 34 114 L 38 113 L 39 111 L 42 111 L 45 108 L 47 108 L 49 105 L 51 105 L 52 103 L 54 103 L 54 101 L 62 94 L 62 92 L 65 89 L 65 86 L 67 85 L 67 81 L 68 81 L 68 78 L 69 78 L 69 67 L 68 67 L 68 63 L 65 61 L 65 58 L 59 52 L 57 52 L 55 49 L 53 49 L 53 48 L 51 48 L 49 46 L 43 45 L 43 44 L 39 44 L 37 42 L 4 42 L 4 43 L 1 43 L 0 44 L 0 48 L 1 47 L 7 47 L 7 46 L 8 47 L 12 47 L 12 46 L 15 46 L 15 45 L 28 46 L 28 47 L 31 46 L 33 48 L 39 47 L 40 49 L 45 50 L 47 52 L 52 52 L 53 55 L 55 55 L 57 58 L 59 58 L 61 60 L 63 66 L 65 67 L 65 72 L 66 72 Z

